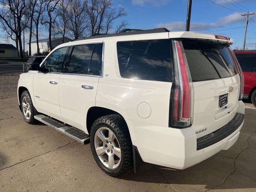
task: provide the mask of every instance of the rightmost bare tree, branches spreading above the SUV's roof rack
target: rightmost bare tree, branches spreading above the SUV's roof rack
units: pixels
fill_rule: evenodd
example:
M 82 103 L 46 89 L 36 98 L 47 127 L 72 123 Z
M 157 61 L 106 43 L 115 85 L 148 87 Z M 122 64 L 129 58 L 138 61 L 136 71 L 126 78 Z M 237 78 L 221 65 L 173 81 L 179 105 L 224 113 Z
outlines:
M 113 28 L 114 20 L 127 15 L 124 7 L 120 7 L 118 12 L 112 6 L 112 0 L 87 0 L 86 12 L 90 21 L 90 33 L 108 33 Z M 121 28 L 128 25 L 123 21 Z

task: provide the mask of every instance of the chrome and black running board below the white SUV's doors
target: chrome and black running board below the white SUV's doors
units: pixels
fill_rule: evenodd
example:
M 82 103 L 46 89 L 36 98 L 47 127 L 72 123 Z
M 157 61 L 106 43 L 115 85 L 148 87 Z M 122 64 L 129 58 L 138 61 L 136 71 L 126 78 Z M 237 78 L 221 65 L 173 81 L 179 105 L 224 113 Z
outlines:
M 65 135 L 77 140 L 80 143 L 83 143 L 83 144 L 89 143 L 90 136 L 83 132 L 77 131 L 74 127 L 67 126 L 63 123 L 60 123 L 59 121 L 52 119 L 51 117 L 47 117 L 44 115 L 35 115 L 34 118 L 56 129 L 57 131 L 62 132 Z

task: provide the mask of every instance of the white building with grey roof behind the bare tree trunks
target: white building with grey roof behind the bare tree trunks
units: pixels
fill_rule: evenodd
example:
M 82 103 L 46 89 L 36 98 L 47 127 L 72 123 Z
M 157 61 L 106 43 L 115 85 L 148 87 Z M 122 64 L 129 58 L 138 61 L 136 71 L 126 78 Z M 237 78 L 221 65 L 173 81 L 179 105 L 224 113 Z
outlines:
M 73 40 L 68 37 L 64 37 L 64 43 L 67 43 L 69 41 L 73 41 Z M 62 37 L 52 38 L 52 49 L 54 49 L 55 47 L 57 47 L 60 44 L 62 44 Z M 40 53 L 50 50 L 49 38 L 38 40 L 38 45 L 39 45 Z M 27 44 L 27 50 L 29 50 L 29 44 Z M 31 42 L 31 55 L 34 55 L 36 53 L 37 53 L 36 41 L 32 41 Z

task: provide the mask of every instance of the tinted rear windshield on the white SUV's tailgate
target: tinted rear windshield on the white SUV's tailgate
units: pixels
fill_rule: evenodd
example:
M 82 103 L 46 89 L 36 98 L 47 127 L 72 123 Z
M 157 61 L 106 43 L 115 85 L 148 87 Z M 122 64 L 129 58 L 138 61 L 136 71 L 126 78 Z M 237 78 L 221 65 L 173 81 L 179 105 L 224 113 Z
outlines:
M 192 81 L 220 79 L 236 74 L 227 45 L 183 40 Z

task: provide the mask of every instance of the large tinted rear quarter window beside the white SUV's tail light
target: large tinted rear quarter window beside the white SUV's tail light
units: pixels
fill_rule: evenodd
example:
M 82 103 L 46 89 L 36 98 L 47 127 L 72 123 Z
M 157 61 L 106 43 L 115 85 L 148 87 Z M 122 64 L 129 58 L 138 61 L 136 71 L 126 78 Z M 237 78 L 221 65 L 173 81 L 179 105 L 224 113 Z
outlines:
M 122 77 L 172 82 L 169 39 L 117 42 L 117 57 Z

